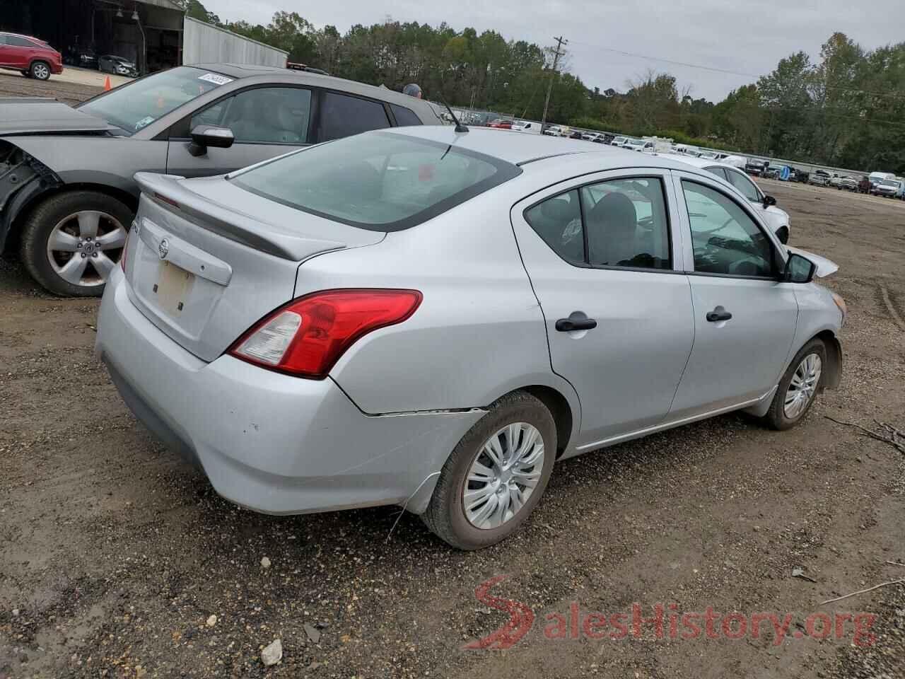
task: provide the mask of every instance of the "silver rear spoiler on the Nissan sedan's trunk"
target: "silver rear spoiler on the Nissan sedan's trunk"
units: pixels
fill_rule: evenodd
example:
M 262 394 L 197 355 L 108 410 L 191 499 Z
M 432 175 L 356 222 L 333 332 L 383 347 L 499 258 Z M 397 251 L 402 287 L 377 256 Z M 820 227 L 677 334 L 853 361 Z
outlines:
M 148 200 L 170 212 L 193 217 L 195 225 L 263 253 L 299 262 L 313 254 L 342 250 L 347 246 L 338 241 L 300 236 L 283 225 L 269 224 L 260 217 L 219 206 L 188 188 L 185 179 L 153 172 L 135 175 L 136 183 Z

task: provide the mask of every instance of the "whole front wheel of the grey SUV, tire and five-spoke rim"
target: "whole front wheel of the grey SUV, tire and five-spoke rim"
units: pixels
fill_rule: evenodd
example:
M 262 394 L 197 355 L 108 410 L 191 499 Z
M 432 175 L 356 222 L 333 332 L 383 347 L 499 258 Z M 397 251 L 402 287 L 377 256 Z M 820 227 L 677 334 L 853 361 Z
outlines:
M 52 196 L 24 224 L 22 262 L 54 294 L 100 295 L 119 262 L 131 220 L 129 206 L 99 191 Z

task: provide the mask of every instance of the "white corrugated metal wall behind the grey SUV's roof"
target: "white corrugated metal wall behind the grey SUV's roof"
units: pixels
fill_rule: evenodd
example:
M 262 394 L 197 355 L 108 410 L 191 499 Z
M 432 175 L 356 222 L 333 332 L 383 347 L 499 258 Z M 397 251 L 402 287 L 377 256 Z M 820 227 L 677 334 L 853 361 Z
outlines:
M 183 63 L 253 63 L 286 66 L 288 52 L 258 43 L 238 33 L 186 16 L 183 33 Z

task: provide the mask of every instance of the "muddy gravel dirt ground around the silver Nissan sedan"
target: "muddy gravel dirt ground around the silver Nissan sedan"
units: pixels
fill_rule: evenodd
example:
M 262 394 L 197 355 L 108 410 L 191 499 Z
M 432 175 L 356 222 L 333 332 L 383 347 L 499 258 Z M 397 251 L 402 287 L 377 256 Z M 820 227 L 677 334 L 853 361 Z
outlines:
M 905 562 L 905 456 L 826 418 L 905 430 L 905 203 L 763 186 L 791 244 L 840 265 L 842 387 L 786 433 L 721 416 L 557 464 L 527 526 L 477 553 L 410 514 L 394 530 L 393 507 L 278 518 L 225 502 L 123 405 L 92 353 L 97 302 L 0 260 L 0 677 L 905 676 L 905 584 L 820 604 L 905 579 L 888 563 Z M 475 596 L 497 576 L 491 595 L 534 625 L 465 649 L 510 619 Z M 629 621 L 662 603 L 664 638 L 653 623 L 573 638 L 573 602 Z M 671 611 L 708 607 L 792 622 L 784 638 L 766 623 L 671 638 Z M 813 613 L 875 618 L 821 640 Z M 567 638 L 545 634 L 557 615 Z

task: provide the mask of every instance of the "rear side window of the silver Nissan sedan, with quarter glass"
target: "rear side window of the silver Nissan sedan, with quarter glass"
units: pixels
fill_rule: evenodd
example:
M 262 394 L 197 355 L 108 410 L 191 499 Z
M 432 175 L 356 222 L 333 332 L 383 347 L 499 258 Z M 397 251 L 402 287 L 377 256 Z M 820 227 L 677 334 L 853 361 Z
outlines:
M 660 179 L 614 179 L 582 186 L 531 207 L 525 219 L 568 263 L 672 268 Z

